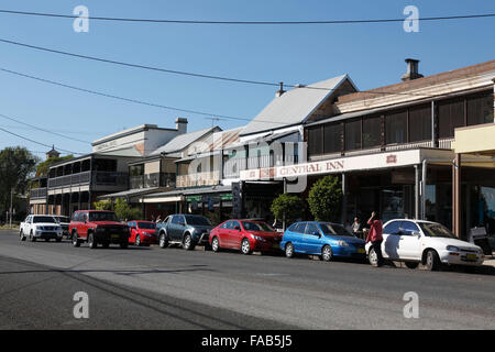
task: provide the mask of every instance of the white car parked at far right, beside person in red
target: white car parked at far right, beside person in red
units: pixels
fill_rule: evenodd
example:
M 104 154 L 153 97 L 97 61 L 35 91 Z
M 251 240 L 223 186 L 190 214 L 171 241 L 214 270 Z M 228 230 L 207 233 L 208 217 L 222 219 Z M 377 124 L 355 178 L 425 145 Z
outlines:
M 365 249 L 370 263 L 376 265 L 377 256 L 370 242 Z M 438 270 L 441 264 L 464 265 L 473 271 L 485 258 L 480 246 L 459 240 L 444 226 L 410 219 L 389 220 L 384 224 L 382 255 L 405 262 L 409 268 L 421 263 L 430 271 Z

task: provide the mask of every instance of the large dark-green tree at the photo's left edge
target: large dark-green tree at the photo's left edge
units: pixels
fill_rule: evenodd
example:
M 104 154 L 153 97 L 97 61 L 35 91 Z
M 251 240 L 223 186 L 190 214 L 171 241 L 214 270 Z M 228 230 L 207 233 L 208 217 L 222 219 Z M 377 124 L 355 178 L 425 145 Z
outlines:
M 10 193 L 25 194 L 38 157 L 23 146 L 8 146 L 0 151 L 0 208 L 10 208 Z

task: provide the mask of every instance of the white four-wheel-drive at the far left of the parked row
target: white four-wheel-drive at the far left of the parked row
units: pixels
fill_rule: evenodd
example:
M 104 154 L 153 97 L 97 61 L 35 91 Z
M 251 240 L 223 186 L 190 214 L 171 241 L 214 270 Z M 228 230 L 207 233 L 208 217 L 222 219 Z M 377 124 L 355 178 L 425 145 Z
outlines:
M 31 242 L 43 239 L 48 242 L 51 239 L 62 241 L 63 230 L 52 216 L 28 216 L 19 228 L 21 241 L 29 237 Z

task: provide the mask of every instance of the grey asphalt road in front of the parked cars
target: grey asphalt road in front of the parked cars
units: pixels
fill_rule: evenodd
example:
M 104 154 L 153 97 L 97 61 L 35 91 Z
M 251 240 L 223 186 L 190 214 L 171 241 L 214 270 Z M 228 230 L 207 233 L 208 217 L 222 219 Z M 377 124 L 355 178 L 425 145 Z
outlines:
M 77 292 L 88 294 L 88 319 L 74 317 Z M 418 318 L 404 317 L 408 292 Z M 493 271 L 76 249 L 0 231 L 0 329 L 494 329 L 494 293 Z

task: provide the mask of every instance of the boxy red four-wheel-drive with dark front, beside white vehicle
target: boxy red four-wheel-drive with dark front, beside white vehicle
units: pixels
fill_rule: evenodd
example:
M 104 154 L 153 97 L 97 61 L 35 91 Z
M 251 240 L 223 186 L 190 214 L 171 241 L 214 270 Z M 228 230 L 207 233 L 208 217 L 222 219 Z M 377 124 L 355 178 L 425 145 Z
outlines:
M 90 249 L 96 249 L 98 244 L 108 248 L 111 243 L 127 249 L 129 244 L 129 227 L 119 222 L 113 211 L 76 211 L 70 220 L 69 231 L 74 246 L 88 242 Z

